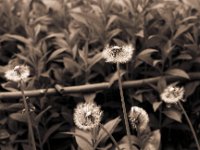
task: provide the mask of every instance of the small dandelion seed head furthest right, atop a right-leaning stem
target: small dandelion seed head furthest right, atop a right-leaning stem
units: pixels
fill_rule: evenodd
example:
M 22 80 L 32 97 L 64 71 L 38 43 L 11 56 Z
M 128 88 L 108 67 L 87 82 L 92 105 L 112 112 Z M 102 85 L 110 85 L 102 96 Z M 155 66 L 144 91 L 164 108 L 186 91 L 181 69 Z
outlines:
M 164 89 L 160 97 L 165 103 L 172 104 L 182 100 L 184 93 L 185 90 L 183 87 L 177 87 L 171 84 Z

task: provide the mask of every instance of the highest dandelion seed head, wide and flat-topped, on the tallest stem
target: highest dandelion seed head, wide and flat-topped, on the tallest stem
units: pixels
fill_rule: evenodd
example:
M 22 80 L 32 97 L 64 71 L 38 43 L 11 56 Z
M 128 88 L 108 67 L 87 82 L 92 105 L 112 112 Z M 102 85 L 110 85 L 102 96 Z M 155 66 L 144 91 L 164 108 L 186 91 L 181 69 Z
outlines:
M 127 63 L 133 56 L 134 48 L 132 45 L 106 46 L 102 52 L 103 58 L 109 63 Z

